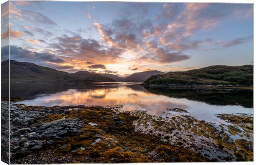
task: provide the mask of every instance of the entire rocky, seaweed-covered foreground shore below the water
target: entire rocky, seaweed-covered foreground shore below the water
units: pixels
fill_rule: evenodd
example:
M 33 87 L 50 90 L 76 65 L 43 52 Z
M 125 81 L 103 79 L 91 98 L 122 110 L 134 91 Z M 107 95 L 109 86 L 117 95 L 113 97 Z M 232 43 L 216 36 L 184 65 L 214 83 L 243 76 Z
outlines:
M 2 101 L 1 106 L 7 103 Z M 230 120 L 221 127 L 184 113 L 161 118 L 144 111 L 121 112 L 121 106 L 10 105 L 10 161 L 24 163 L 128 163 L 253 161 L 253 120 Z M 233 127 L 236 122 L 237 127 Z M 238 124 L 239 123 L 239 124 Z M 245 128 L 246 127 L 246 128 Z M 221 130 L 222 128 L 222 130 Z M 246 137 L 232 140 L 230 134 Z M 225 130 L 227 129 L 227 130 Z M 237 130 L 237 132 L 235 131 Z M 194 139 L 194 140 L 193 140 Z M 202 145 L 204 144 L 204 145 Z

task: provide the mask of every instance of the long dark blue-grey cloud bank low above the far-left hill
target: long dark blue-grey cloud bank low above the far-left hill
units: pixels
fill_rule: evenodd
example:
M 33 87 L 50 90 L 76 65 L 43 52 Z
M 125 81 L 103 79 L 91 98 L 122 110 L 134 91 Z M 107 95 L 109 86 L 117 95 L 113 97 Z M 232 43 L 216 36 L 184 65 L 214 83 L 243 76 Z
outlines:
M 3 54 L 9 54 L 9 47 L 1 47 L 1 52 Z M 27 61 L 33 63 L 43 63 L 43 62 L 52 62 L 52 63 L 64 63 L 65 61 L 60 57 L 55 56 L 54 54 L 47 52 L 33 52 L 16 45 L 10 46 L 10 57 L 11 59 L 17 61 Z

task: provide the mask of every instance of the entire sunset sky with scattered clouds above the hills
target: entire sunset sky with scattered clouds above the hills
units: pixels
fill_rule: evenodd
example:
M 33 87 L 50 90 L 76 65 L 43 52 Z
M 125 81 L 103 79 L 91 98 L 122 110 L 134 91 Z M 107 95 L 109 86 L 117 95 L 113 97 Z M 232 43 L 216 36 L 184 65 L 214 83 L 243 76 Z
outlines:
M 10 1 L 10 19 L 1 9 L 2 54 L 10 33 L 10 59 L 69 73 L 253 64 L 253 4 Z

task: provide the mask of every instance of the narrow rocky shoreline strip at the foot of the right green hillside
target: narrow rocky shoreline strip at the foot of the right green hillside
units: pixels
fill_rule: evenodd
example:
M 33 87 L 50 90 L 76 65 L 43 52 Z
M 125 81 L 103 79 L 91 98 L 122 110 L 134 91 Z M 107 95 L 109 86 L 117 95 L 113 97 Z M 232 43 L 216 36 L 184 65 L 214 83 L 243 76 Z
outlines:
M 192 89 L 192 90 L 253 90 L 253 86 L 234 85 L 181 85 L 181 84 L 148 84 L 142 83 L 144 87 L 165 89 Z

